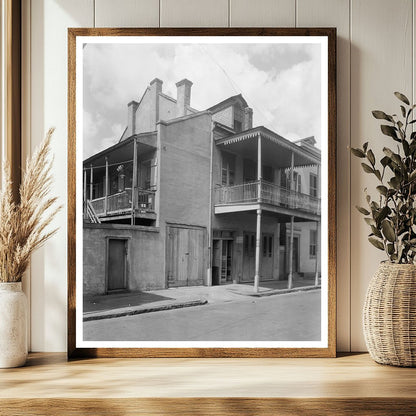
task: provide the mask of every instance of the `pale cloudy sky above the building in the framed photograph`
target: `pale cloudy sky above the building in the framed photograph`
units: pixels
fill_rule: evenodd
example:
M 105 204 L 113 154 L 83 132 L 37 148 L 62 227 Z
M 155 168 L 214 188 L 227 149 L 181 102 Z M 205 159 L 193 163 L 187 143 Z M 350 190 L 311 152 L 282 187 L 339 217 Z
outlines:
M 241 93 L 264 125 L 296 140 L 321 136 L 319 44 L 98 44 L 84 47 L 84 158 L 117 143 L 127 103 L 154 78 L 176 98 L 175 83 L 193 82 L 197 110 Z

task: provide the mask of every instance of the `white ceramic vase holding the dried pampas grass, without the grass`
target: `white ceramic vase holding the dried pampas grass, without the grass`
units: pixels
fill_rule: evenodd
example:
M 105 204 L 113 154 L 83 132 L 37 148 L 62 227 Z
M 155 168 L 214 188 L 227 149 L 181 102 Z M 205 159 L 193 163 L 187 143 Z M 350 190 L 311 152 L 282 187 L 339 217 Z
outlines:
M 27 359 L 27 301 L 21 282 L 0 283 L 0 368 Z

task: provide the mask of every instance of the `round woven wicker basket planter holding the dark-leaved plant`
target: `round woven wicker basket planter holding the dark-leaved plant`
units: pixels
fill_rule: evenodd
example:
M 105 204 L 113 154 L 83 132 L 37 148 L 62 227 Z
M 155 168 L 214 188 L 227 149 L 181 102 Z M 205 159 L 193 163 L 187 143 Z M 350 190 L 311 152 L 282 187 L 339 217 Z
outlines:
M 381 263 L 367 290 L 364 337 L 374 361 L 416 367 L 416 266 Z

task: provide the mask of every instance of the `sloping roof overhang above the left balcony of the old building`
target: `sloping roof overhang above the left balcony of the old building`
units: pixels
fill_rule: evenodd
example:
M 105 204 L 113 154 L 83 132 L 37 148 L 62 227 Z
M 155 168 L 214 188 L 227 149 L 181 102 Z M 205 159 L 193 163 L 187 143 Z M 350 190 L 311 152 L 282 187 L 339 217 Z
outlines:
M 108 159 L 108 162 L 112 164 L 131 161 L 133 159 L 135 139 L 137 140 L 138 155 L 145 154 L 156 149 L 156 132 L 135 134 L 122 142 L 116 143 L 115 145 L 85 159 L 83 162 L 84 167 L 89 167 L 90 165 L 93 167 L 103 166 L 105 165 L 106 158 Z

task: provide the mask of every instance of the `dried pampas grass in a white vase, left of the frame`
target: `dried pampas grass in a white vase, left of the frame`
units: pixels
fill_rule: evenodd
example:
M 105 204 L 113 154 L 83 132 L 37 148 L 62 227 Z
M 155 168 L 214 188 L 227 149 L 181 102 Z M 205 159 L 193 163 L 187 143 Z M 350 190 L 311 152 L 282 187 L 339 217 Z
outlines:
M 50 129 L 33 157 L 26 162 L 19 188 L 13 198 L 8 166 L 0 191 L 0 368 L 24 365 L 27 358 L 27 303 L 22 277 L 30 256 L 55 230 L 48 230 L 61 207 L 48 197 L 52 177 L 49 160 Z

